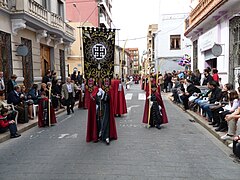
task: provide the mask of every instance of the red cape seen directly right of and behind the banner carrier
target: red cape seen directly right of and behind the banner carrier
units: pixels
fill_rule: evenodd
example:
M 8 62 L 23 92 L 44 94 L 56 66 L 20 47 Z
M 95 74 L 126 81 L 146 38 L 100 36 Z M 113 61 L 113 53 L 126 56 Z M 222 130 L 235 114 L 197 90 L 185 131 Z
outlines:
M 127 113 L 127 104 L 124 94 L 124 88 L 122 86 L 121 91 L 118 91 L 120 80 L 114 79 L 111 82 L 111 91 L 113 91 L 113 104 L 114 104 L 114 114 L 126 114 Z

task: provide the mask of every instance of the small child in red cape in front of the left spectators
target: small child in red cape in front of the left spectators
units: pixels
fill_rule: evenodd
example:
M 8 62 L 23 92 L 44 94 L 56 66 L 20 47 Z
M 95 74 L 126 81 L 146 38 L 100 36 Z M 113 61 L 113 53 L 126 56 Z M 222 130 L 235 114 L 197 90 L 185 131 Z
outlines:
M 46 96 L 46 92 L 43 91 L 41 92 L 41 99 L 39 99 L 38 103 L 38 127 L 45 127 L 55 123 L 57 123 L 57 120 L 54 108 L 51 104 L 49 106 L 49 98 Z

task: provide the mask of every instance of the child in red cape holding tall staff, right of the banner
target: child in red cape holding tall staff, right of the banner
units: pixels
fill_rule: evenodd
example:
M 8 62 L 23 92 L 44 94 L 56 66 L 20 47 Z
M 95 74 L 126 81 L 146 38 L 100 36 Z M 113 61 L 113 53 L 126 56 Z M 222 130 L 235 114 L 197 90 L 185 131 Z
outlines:
M 155 83 L 147 81 L 146 88 L 146 101 L 143 113 L 142 122 L 148 124 L 148 127 L 156 127 L 161 129 L 161 124 L 168 123 L 167 113 L 161 97 L 161 94 L 157 92 Z M 151 90 L 149 90 L 151 87 Z M 150 96 L 149 96 L 150 95 Z M 150 114 L 149 114 L 150 113 Z

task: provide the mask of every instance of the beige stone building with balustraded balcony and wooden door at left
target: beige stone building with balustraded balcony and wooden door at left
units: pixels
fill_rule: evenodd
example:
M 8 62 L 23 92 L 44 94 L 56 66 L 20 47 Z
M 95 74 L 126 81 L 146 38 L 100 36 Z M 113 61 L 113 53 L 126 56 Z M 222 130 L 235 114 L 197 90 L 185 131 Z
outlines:
M 0 71 L 29 89 L 47 70 L 66 77 L 66 49 L 75 40 L 65 0 L 0 0 Z

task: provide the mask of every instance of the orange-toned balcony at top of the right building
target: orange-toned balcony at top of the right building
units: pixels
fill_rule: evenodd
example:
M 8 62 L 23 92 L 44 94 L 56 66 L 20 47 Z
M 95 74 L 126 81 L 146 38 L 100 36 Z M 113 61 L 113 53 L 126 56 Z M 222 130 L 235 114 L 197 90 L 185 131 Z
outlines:
M 199 25 L 227 1 L 228 0 L 200 0 L 198 5 L 192 10 L 189 17 L 185 20 L 185 35 L 187 35 L 193 28 Z

